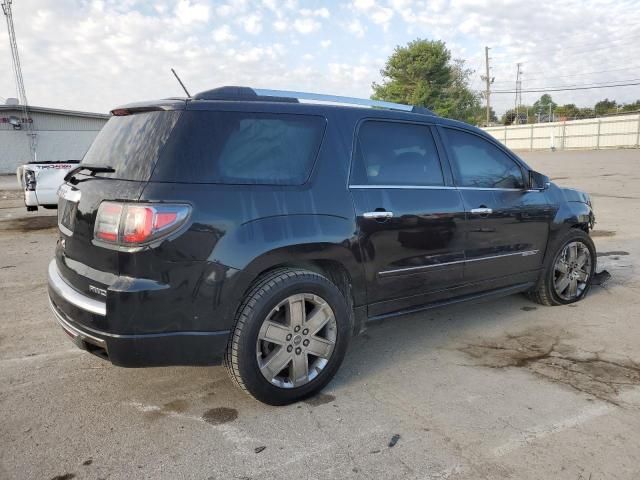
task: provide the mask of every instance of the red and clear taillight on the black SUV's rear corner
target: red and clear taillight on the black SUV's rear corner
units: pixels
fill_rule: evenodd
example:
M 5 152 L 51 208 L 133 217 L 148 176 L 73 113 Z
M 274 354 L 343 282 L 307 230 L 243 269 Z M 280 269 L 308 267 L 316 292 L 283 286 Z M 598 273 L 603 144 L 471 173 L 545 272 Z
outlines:
M 176 231 L 190 212 L 189 205 L 102 202 L 93 236 L 117 246 L 145 245 Z

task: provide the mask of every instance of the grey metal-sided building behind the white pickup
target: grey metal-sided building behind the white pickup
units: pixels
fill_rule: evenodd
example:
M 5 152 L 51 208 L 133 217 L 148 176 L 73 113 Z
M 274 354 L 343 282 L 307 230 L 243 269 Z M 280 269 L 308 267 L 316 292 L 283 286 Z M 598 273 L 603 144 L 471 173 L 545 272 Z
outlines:
M 109 115 L 29 106 L 16 99 L 0 105 L 0 173 L 15 173 L 32 160 L 26 123 L 31 124 L 38 162 L 81 160 Z

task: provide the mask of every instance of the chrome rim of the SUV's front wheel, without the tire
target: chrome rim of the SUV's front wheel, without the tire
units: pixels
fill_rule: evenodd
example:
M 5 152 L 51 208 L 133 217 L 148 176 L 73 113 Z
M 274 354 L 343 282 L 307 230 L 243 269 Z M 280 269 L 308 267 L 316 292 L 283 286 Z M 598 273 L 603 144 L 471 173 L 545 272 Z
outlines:
M 589 285 L 591 252 L 582 242 L 567 244 L 558 255 L 553 271 L 553 287 L 563 300 L 575 300 Z

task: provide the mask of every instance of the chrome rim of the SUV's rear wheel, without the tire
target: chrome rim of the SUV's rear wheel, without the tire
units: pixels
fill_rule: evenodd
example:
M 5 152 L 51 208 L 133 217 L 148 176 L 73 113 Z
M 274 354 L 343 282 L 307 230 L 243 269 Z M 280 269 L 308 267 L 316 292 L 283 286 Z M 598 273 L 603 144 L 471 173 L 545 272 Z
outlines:
M 262 376 L 280 388 L 313 381 L 329 363 L 337 338 L 336 317 L 318 295 L 291 295 L 267 315 L 256 342 Z

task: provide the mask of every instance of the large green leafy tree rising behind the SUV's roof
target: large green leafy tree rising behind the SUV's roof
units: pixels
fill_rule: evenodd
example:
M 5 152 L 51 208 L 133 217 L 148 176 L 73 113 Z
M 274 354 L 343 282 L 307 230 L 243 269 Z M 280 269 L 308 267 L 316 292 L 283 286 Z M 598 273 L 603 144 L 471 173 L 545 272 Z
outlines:
M 451 58 L 444 42 L 417 39 L 396 47 L 380 71 L 382 83 L 372 84 L 372 98 L 427 107 L 473 123 L 480 97 L 469 87 L 471 73 L 463 60 Z

